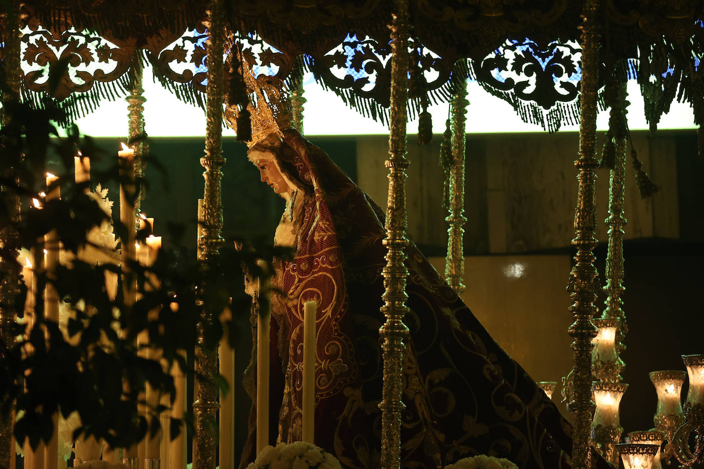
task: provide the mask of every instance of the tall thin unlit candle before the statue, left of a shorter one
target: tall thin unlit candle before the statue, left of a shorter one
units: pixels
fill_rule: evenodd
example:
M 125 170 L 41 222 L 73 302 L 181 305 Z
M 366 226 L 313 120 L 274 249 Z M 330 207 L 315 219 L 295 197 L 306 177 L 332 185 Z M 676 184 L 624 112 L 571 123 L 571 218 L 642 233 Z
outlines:
M 266 262 L 257 262 L 266 271 Z M 259 281 L 260 301 L 257 317 L 257 454 L 269 444 L 269 334 L 270 334 L 270 281 Z

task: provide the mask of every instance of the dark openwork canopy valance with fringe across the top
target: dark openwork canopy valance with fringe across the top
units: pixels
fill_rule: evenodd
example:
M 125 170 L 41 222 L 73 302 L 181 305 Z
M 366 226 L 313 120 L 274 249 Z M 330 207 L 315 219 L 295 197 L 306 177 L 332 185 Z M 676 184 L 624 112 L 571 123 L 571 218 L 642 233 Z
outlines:
M 411 2 L 410 117 L 448 102 L 453 78 L 468 77 L 527 122 L 551 130 L 577 122 L 581 6 L 577 0 Z M 703 122 L 703 1 L 606 0 L 605 7 L 602 66 L 639 79 L 653 129 L 675 99 L 692 105 L 696 122 Z M 39 103 L 56 72 L 51 97 L 68 100 L 73 114 L 82 115 L 103 98 L 127 94 L 127 71 L 143 60 L 178 98 L 202 106 L 207 8 L 202 0 L 27 1 L 23 97 Z M 304 56 L 315 79 L 346 104 L 388 121 L 391 2 L 233 0 L 226 19 L 260 72 L 298 79 L 295 59 Z M 469 60 L 453 68 L 460 59 Z

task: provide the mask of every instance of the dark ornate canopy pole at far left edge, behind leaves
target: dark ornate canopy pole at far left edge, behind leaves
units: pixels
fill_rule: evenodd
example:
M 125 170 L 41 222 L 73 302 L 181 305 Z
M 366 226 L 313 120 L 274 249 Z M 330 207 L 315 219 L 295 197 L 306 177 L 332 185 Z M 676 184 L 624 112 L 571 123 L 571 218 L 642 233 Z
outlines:
M 6 36 L 2 38 L 4 41 L 3 60 L 3 75 L 5 83 L 3 86 L 2 103 L 3 109 L 0 110 L 2 125 L 8 125 L 12 120 L 11 113 L 7 110 L 7 103 L 17 103 L 20 101 L 20 32 L 18 29 L 18 4 L 11 1 L 8 2 L 7 8 L 7 23 Z M 11 136 L 5 135 L 5 138 Z M 2 146 L 6 144 L 12 145 L 13 142 L 0 142 Z M 3 174 L 8 178 L 15 178 L 15 174 Z M 5 190 L 1 188 L 0 190 Z M 7 194 L 8 200 L 8 216 L 12 221 L 18 222 L 20 218 L 19 198 L 16 194 Z M 12 323 L 15 321 L 15 310 L 12 307 L 14 304 L 13 297 L 18 293 L 18 266 L 15 262 L 17 257 L 16 252 L 19 249 L 19 237 L 15 226 L 0 227 L 0 245 L 4 252 L 9 253 L 9 256 L 0 256 L 0 267 L 7 274 L 0 279 L 0 338 L 6 347 L 12 347 L 15 343 L 15 338 L 12 333 Z M 14 411 L 3 413 L 0 416 L 0 468 L 7 469 L 11 467 L 11 461 L 15 457 L 15 448 L 12 438 Z

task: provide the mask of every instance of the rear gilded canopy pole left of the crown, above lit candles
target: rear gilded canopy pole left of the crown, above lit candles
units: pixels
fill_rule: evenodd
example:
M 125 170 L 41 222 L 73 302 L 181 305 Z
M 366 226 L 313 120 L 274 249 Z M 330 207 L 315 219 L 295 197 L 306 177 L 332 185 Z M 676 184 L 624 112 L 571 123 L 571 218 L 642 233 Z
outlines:
M 149 156 L 149 143 L 146 143 L 146 133 L 144 132 L 144 103 L 146 98 L 143 96 L 143 75 L 142 62 L 140 62 L 139 58 L 135 58 L 130 69 L 132 89 L 130 90 L 130 96 L 127 96 L 125 101 L 127 101 L 127 116 L 130 117 L 129 146 L 134 150 L 134 159 L 132 160 L 134 169 L 132 174 L 134 174 L 134 180 L 137 181 L 137 190 L 139 191 L 135 196 L 136 200 L 134 200 L 134 206 L 137 208 L 138 213 L 142 206 L 142 200 L 144 200 L 144 185 L 139 184 L 139 181 L 144 177 L 145 159 Z

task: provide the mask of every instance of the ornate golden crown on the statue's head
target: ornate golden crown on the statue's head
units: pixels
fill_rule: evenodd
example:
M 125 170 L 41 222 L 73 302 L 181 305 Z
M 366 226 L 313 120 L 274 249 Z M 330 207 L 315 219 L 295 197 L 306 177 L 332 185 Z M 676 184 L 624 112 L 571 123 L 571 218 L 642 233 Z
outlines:
M 293 127 L 293 108 L 286 84 L 281 79 L 268 75 L 254 77 L 249 63 L 241 55 L 240 60 L 243 63 L 239 70 L 242 70 L 242 78 L 249 92 L 247 110 L 252 127 L 252 139 L 247 142 L 247 146 L 252 148 L 272 134 L 283 139 L 284 129 Z M 225 122 L 234 131 L 237 131 L 239 112 L 236 104 L 225 106 Z

